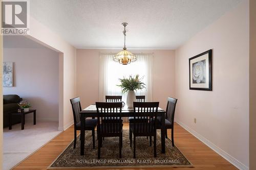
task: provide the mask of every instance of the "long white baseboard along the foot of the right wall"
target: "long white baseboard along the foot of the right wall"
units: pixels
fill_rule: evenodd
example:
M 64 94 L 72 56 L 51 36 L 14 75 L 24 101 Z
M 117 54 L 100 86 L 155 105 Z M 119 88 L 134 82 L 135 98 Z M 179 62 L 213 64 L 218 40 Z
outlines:
M 196 138 L 201 140 L 204 144 L 206 144 L 210 149 L 214 150 L 217 154 L 222 156 L 224 159 L 226 159 L 228 162 L 239 168 L 240 170 L 249 170 L 249 167 L 245 166 L 243 163 L 226 153 L 225 151 L 221 150 L 219 147 L 217 147 L 214 143 L 210 142 L 208 139 L 203 137 L 202 135 L 198 134 L 193 129 L 189 128 L 179 120 L 175 119 L 175 122 L 179 124 L 181 127 L 183 127 L 185 130 L 187 130 L 189 133 L 194 135 Z

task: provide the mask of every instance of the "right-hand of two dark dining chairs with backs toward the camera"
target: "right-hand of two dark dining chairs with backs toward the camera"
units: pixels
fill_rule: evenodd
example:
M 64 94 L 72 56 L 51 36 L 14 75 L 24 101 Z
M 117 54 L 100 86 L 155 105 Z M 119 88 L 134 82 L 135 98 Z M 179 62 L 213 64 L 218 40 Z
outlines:
M 134 102 L 134 122 L 130 124 L 131 133 L 133 134 L 133 157 L 136 158 L 136 137 L 150 136 L 154 137 L 154 157 L 157 157 L 156 152 L 156 134 L 157 134 L 157 112 L 159 102 Z M 136 114 L 141 114 L 146 119 L 137 119 Z M 151 145 L 151 144 L 150 144 Z M 132 135 L 130 136 L 130 147 L 132 147 Z

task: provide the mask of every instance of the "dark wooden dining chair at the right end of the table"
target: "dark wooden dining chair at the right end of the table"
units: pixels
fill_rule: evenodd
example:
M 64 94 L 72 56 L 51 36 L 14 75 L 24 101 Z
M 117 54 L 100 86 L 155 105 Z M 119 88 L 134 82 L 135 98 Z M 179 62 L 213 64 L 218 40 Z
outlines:
M 172 129 L 172 145 L 174 147 L 174 115 L 175 115 L 175 108 L 177 104 L 177 99 L 175 98 L 168 98 L 167 105 L 166 105 L 166 113 L 165 113 L 165 137 L 167 136 L 167 129 Z M 157 117 L 158 124 L 157 129 L 161 129 L 161 117 Z

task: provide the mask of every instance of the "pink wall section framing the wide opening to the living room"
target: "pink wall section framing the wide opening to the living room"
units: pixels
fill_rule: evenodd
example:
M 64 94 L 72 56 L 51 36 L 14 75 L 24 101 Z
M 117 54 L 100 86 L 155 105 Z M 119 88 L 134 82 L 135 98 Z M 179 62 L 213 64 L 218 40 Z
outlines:
M 70 99 L 76 95 L 76 49 L 32 16 L 28 38 L 59 53 L 59 130 L 66 130 L 74 123 Z

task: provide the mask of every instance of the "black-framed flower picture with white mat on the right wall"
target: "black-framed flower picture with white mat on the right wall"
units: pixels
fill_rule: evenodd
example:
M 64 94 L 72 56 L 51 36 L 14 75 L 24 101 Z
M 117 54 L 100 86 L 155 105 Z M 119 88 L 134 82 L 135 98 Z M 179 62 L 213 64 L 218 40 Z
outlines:
M 211 50 L 189 58 L 189 89 L 212 90 Z

